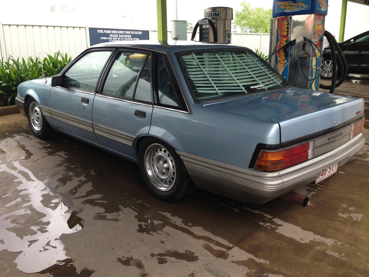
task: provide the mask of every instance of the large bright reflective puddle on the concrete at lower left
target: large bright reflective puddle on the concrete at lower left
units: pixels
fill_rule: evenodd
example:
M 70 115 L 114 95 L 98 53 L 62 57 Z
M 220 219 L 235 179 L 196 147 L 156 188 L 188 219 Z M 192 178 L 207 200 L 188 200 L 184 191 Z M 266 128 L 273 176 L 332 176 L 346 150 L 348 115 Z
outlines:
M 60 197 L 56 198 L 58 202 L 55 209 L 43 205 L 42 197 L 51 192 L 18 161 L 0 164 L 0 172 L 16 178 L 14 185 L 17 186 L 19 196 L 26 199 L 21 202 L 13 201 L 8 206 L 18 209 L 1 216 L 0 237 L 3 243 L 0 244 L 0 251 L 6 249 L 20 252 L 14 262 L 25 273 L 39 272 L 52 267 L 58 260 L 68 259 L 60 236 L 81 230 L 83 220 L 73 212 L 68 213 L 69 208 L 60 201 Z M 20 207 L 22 208 L 19 209 Z M 23 217 L 20 218 L 21 216 Z M 26 226 L 24 222 L 27 222 Z

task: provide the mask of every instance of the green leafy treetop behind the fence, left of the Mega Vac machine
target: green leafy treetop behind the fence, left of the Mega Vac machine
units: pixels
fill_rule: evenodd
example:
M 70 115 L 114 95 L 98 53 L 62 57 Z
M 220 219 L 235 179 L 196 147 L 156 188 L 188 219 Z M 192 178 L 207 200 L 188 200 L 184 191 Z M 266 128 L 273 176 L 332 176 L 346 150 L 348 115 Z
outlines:
M 245 33 L 269 33 L 272 9 L 253 7 L 245 0 L 241 3 L 242 10 L 236 11 L 234 24 Z

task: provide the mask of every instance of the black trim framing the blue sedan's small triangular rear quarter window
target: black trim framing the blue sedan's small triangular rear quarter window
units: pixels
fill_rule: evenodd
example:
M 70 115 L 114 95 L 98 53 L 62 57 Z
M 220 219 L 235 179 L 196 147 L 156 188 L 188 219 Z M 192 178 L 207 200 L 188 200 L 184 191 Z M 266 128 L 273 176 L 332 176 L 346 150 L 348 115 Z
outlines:
M 158 57 L 161 57 L 164 62 L 164 66 L 166 69 L 166 72 L 169 76 L 170 84 L 172 85 L 173 92 L 177 99 L 178 106 L 172 106 L 172 105 L 166 105 L 161 104 L 159 102 L 159 92 L 158 92 L 158 79 L 157 79 L 157 70 L 158 70 Z M 162 109 L 168 109 L 178 112 L 184 112 L 184 113 L 190 113 L 189 108 L 187 106 L 186 100 L 184 99 L 184 95 L 182 93 L 182 90 L 179 87 L 176 75 L 173 71 L 172 63 L 170 62 L 170 59 L 168 57 L 168 54 L 163 52 L 155 52 L 154 53 L 154 59 L 153 59 L 153 76 L 154 76 L 154 107 L 162 108 Z

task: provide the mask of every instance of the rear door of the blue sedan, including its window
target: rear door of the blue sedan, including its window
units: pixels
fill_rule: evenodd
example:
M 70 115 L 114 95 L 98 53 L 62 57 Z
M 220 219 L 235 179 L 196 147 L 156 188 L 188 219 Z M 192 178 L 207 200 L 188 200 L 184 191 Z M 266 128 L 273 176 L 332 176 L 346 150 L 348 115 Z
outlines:
M 150 51 L 118 51 L 93 103 L 93 129 L 101 146 L 130 158 L 136 158 L 135 138 L 148 134 L 151 125 L 151 57 Z

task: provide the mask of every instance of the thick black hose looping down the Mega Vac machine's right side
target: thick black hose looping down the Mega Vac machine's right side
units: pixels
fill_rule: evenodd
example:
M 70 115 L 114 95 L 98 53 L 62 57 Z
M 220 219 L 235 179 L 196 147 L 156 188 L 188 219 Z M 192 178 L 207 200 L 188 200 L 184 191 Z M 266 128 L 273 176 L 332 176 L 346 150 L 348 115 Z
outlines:
M 327 38 L 330 48 L 331 48 L 331 56 L 332 56 L 332 83 L 330 86 L 326 86 L 323 84 L 319 84 L 319 87 L 322 89 L 329 89 L 329 93 L 334 93 L 334 89 L 337 88 L 338 86 L 340 86 L 346 79 L 347 76 L 347 61 L 346 58 L 344 56 L 344 53 L 341 50 L 341 47 L 339 47 L 338 42 L 335 40 L 335 38 L 333 37 L 333 35 L 328 32 L 328 31 L 324 31 L 324 36 Z M 339 57 L 339 62 L 342 66 L 343 72 L 342 72 L 342 76 L 341 79 L 336 83 L 337 81 L 337 54 L 336 51 L 338 53 L 338 57 Z

